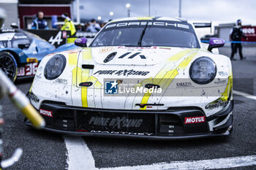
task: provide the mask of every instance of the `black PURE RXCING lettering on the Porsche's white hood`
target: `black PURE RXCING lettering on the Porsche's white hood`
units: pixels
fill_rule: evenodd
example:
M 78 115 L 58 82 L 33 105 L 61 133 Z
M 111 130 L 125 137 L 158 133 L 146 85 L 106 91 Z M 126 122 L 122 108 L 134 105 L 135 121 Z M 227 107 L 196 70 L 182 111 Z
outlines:
M 146 76 L 149 72 L 145 72 L 145 71 L 135 71 L 133 69 L 127 70 L 98 70 L 97 72 L 95 72 L 94 74 L 99 74 L 99 75 L 124 75 L 124 76 L 129 76 L 129 75 L 141 75 L 141 76 Z

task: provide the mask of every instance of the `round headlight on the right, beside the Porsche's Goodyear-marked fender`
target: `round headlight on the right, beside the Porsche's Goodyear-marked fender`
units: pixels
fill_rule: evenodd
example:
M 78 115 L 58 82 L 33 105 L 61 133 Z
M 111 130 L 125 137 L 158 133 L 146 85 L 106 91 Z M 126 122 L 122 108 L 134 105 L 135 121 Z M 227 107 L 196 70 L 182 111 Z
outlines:
M 214 80 L 216 76 L 216 63 L 211 58 L 197 58 L 190 66 L 189 75 L 193 82 L 203 85 Z

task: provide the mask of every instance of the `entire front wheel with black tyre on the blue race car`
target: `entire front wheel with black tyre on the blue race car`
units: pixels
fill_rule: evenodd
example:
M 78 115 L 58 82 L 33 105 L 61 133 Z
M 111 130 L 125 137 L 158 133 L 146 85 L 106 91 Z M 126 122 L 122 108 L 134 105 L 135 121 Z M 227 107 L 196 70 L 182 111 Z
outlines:
M 6 51 L 0 52 L 0 68 L 12 82 L 15 82 L 18 67 L 17 62 L 11 53 Z

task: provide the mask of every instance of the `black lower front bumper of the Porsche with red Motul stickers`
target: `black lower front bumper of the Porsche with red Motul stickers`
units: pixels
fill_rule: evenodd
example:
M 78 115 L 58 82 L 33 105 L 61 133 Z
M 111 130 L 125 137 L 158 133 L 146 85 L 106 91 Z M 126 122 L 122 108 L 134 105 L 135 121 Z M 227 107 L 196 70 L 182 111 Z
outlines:
M 45 118 L 44 129 L 60 134 L 138 139 L 190 139 L 229 136 L 233 130 L 233 101 L 230 102 L 224 112 L 218 112 L 211 117 L 205 117 L 203 111 L 197 107 L 141 111 L 89 109 L 52 102 L 42 103 L 39 112 Z M 205 117 L 205 120 L 200 123 L 185 123 L 187 117 Z M 31 125 L 29 120 L 26 120 L 26 125 Z

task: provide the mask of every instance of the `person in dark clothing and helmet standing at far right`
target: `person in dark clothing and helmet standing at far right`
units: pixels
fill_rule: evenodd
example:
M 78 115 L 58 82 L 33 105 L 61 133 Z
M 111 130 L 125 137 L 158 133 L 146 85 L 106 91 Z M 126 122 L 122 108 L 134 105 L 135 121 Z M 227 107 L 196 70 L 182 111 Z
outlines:
M 237 49 L 239 51 L 240 59 L 241 60 L 245 59 L 243 57 L 243 53 L 242 53 L 242 45 L 241 45 L 241 37 L 242 36 L 245 39 L 247 39 L 247 37 L 243 33 L 241 20 L 237 20 L 237 25 L 234 26 L 234 28 L 230 31 L 230 41 L 233 41 L 231 43 L 231 56 L 230 56 L 231 60 L 234 60 L 234 61 L 236 60 L 233 57 L 234 57 L 235 53 L 237 53 Z

